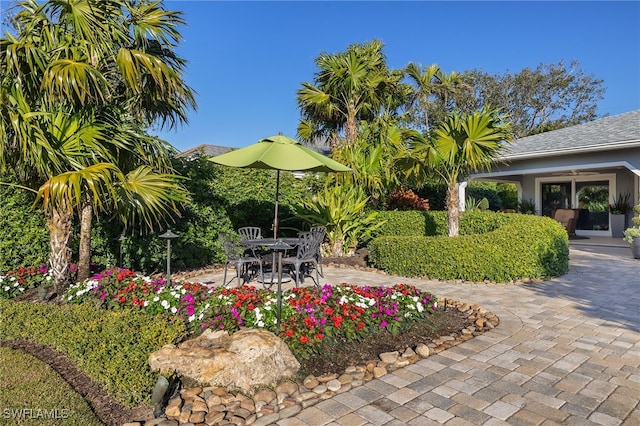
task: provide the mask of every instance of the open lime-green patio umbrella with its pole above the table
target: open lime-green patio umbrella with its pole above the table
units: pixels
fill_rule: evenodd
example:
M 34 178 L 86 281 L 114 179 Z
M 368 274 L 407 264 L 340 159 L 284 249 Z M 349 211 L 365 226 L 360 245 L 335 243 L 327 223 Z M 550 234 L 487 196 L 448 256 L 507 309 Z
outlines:
M 348 172 L 351 169 L 303 146 L 295 139 L 276 135 L 259 140 L 253 145 L 211 157 L 214 163 L 223 166 L 251 169 L 271 169 L 277 171 L 276 201 L 273 219 L 273 237 L 278 237 L 278 195 L 280 192 L 280 171 L 291 172 Z

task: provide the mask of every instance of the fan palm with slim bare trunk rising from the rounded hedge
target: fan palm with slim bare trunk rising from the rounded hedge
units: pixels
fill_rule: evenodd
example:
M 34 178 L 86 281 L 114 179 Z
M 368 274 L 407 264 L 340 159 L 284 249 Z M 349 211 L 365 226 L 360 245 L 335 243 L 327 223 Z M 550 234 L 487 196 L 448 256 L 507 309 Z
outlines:
M 511 125 L 498 110 L 453 112 L 425 138 L 413 133 L 413 172 L 435 172 L 447 184 L 449 236 L 459 234 L 458 183 L 470 172 L 486 169 L 511 140 Z

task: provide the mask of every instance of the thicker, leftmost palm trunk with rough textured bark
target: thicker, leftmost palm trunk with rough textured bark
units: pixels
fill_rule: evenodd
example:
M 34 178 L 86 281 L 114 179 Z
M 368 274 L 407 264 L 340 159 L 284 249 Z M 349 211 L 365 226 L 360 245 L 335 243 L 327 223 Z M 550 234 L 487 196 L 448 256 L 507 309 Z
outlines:
M 48 227 L 49 246 L 51 247 L 49 264 L 53 274 L 53 288 L 56 294 L 60 296 L 69 285 L 71 213 L 64 206 L 53 209 L 49 217 Z

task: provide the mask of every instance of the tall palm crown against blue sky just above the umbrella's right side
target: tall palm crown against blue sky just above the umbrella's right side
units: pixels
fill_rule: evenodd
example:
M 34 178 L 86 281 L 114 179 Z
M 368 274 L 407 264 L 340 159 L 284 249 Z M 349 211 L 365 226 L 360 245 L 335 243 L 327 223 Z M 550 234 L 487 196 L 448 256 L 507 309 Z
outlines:
M 374 40 L 316 58 L 315 82 L 298 90 L 301 139 L 325 137 L 332 150 L 341 138 L 350 145 L 358 136 L 359 121 L 372 120 L 385 109 L 395 111 L 404 102 L 402 73 L 388 69 L 382 47 Z

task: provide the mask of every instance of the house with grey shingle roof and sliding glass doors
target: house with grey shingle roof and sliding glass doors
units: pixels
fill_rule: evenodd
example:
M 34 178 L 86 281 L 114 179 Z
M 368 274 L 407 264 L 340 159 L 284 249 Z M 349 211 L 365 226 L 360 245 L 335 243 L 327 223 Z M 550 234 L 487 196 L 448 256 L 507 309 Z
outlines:
M 619 236 L 607 207 L 620 194 L 639 202 L 640 110 L 518 139 L 490 171 L 468 180 L 514 183 L 540 215 L 579 209 L 578 235 Z

